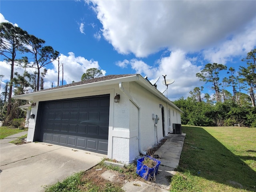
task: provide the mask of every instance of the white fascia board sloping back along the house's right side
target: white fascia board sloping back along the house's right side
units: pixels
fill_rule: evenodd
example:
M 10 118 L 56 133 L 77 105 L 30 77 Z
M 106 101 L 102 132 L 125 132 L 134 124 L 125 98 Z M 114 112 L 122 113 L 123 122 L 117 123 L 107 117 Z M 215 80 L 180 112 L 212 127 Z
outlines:
M 173 102 L 171 102 L 168 98 L 166 98 L 158 89 L 156 89 L 154 86 L 152 86 L 146 79 L 144 79 L 142 76 L 139 76 L 139 81 L 142 87 L 146 88 L 148 91 L 150 91 L 152 94 L 156 95 L 157 97 L 161 98 L 168 104 L 170 104 L 172 107 L 177 109 L 179 112 L 183 113 L 183 111 L 178 108 Z

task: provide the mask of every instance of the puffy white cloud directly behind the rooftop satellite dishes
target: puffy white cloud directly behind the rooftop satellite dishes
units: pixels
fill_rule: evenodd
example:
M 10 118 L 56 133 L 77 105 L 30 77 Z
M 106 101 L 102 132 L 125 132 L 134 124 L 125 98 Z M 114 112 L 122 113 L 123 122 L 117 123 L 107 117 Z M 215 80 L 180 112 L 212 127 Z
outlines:
M 180 96 L 188 96 L 191 90 L 204 84 L 195 75 L 200 72 L 201 67 L 192 64 L 190 60 L 195 61 L 196 58 L 186 58 L 184 51 L 176 50 L 171 52 L 169 56 L 162 57 L 158 60 L 156 67 L 149 66 L 142 60 L 137 59 L 130 61 L 124 60 L 118 62 L 117 65 L 121 68 L 130 65 L 136 73 L 142 76 L 147 75 L 149 80 L 160 76 L 160 79 L 156 83 L 157 89 L 160 92 L 166 90 L 166 86 L 162 83 L 164 81 L 163 74 L 166 74 L 166 79 L 175 80 L 173 84 L 168 86 L 168 98 L 176 100 Z M 166 95 L 166 92 L 164 94 Z

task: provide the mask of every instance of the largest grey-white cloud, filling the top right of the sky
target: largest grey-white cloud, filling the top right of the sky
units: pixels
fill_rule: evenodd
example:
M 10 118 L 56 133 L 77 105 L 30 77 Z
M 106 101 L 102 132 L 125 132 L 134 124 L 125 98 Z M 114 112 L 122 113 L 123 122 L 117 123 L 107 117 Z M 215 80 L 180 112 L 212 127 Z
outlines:
M 200 51 L 244 36 L 254 1 L 93 1 L 103 36 L 121 54 Z M 255 29 L 255 25 L 250 27 Z M 241 43 L 241 42 L 240 42 Z

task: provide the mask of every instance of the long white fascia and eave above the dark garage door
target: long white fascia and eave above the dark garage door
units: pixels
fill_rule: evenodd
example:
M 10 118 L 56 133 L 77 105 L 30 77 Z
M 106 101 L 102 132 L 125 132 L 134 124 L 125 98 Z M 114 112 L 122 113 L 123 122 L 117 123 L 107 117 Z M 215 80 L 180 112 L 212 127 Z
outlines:
M 93 82 L 93 83 L 88 83 L 88 84 L 81 84 L 81 85 L 56 88 L 56 89 L 50 89 L 50 90 L 42 90 L 39 92 L 32 92 L 32 93 L 23 94 L 23 95 L 16 95 L 16 96 L 12 96 L 12 98 L 23 99 L 23 100 L 33 100 L 34 97 L 39 96 L 39 95 L 41 96 L 44 94 L 50 94 L 50 93 L 56 93 L 56 92 L 78 90 L 78 89 L 98 87 L 98 86 L 106 86 L 106 85 L 111 85 L 111 84 L 118 84 L 119 82 L 132 82 L 132 81 L 137 81 L 138 78 L 139 78 L 139 75 L 136 74 L 133 76 L 110 79 L 110 80 L 105 80 L 105 81 L 100 81 L 100 82 Z

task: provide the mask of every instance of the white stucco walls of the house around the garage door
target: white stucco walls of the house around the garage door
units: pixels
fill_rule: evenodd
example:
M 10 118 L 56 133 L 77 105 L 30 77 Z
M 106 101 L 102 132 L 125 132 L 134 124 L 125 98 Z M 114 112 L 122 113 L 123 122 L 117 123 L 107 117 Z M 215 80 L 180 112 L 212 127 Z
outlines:
M 136 82 L 124 82 L 122 86 L 124 91 L 119 84 L 113 84 L 34 97 L 37 105 L 31 114 L 35 114 L 35 119 L 29 119 L 27 140 L 34 138 L 38 102 L 110 94 L 108 158 L 131 162 L 163 138 L 160 104 L 164 110 L 164 135 L 172 130 L 173 123 L 180 123 L 180 112 Z M 119 103 L 114 102 L 116 94 L 120 94 Z M 157 124 L 152 114 L 158 115 Z

